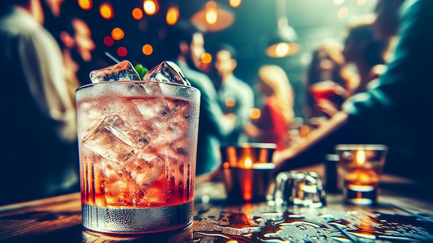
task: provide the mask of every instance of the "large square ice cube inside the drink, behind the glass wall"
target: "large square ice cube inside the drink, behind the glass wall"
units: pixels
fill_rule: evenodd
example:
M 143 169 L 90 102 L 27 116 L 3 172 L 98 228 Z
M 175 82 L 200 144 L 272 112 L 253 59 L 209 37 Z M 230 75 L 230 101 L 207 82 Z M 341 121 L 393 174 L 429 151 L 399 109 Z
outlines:
M 146 146 L 149 137 L 140 130 L 133 130 L 119 115 L 108 115 L 82 143 L 102 157 L 122 164 L 136 153 L 136 148 Z

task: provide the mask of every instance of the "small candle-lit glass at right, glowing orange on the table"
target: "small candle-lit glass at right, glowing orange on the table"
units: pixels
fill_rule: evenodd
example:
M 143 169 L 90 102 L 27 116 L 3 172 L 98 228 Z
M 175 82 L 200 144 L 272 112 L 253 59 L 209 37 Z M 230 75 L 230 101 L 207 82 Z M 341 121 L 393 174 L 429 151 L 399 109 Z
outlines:
M 378 184 L 383 171 L 387 146 L 382 144 L 339 144 L 335 146 L 339 186 L 344 202 L 371 205 L 378 200 Z

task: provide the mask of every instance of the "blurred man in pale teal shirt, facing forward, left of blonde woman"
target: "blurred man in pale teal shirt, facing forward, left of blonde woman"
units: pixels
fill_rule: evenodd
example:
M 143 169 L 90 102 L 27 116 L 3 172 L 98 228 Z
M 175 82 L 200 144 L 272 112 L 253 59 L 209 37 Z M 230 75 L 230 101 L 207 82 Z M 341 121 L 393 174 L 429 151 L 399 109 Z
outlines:
M 254 107 L 254 92 L 241 79 L 234 76 L 237 67 L 237 52 L 228 43 L 219 44 L 214 50 L 214 67 L 216 75 L 214 85 L 218 93 L 219 105 L 225 114 L 236 116 L 234 130 L 223 144 L 233 145 L 248 142 L 243 126 L 251 122 L 250 110 Z

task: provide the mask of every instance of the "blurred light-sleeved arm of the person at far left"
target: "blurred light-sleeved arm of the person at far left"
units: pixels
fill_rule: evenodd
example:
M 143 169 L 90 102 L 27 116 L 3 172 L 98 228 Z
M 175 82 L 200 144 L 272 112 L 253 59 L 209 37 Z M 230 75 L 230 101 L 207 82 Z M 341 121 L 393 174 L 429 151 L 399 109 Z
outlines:
M 57 43 L 44 29 L 23 35 L 18 41 L 21 65 L 35 102 L 55 122 L 59 139 L 75 141 L 75 108 L 68 97 Z

